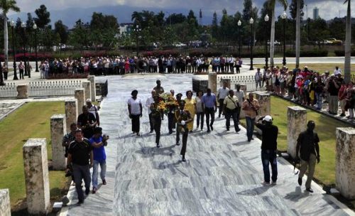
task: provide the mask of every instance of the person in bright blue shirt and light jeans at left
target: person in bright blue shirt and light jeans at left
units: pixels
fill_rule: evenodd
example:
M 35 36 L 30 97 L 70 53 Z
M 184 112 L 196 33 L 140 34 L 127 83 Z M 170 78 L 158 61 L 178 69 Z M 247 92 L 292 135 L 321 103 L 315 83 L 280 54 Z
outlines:
M 100 177 L 102 184 L 106 185 L 106 152 L 104 146 L 107 146 L 107 140 L 109 139 L 108 135 L 102 136 L 102 128 L 94 128 L 94 135 L 89 139 L 90 144 L 94 153 L 94 166 L 92 169 L 92 193 L 97 191 L 97 177 L 99 175 L 99 166 L 101 168 Z

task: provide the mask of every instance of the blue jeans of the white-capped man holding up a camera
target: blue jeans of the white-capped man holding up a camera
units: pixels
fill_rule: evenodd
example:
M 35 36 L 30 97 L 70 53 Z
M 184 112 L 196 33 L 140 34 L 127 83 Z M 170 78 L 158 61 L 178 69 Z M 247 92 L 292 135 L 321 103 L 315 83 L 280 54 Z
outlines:
M 261 161 L 263 162 L 264 181 L 270 183 L 269 163 L 271 164 L 271 180 L 278 180 L 278 161 L 276 161 L 275 150 L 261 150 Z

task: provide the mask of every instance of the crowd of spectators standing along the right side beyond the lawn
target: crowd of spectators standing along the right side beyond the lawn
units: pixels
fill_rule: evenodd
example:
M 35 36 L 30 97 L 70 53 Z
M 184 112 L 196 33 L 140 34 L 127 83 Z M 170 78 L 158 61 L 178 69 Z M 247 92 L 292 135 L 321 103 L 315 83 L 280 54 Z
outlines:
M 307 66 L 301 69 L 289 70 L 273 67 L 257 69 L 254 76 L 256 89 L 266 86 L 266 90 L 276 95 L 287 96 L 295 102 L 321 110 L 328 103 L 328 112 L 332 115 L 342 110 L 340 117 L 354 119 L 355 88 L 354 83 L 345 83 L 342 70 L 339 67 L 330 74 L 322 74 L 310 70 Z

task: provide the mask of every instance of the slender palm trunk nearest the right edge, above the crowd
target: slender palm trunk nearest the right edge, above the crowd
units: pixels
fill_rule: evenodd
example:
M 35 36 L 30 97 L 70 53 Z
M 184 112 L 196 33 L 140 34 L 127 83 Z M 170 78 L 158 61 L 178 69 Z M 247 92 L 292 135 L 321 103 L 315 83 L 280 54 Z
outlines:
M 345 60 L 344 60 L 344 81 L 350 82 L 351 65 L 351 8 L 350 0 L 345 0 L 344 4 L 348 3 L 348 9 L 346 12 L 346 34 L 345 34 Z

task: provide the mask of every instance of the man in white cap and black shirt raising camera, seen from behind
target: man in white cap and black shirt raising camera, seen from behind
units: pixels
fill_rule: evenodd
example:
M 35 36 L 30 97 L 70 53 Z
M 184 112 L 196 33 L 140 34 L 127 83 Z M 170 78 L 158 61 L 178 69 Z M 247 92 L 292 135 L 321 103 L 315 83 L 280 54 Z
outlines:
M 261 119 L 263 123 L 260 123 Z M 278 180 L 278 163 L 276 161 L 276 151 L 278 148 L 278 127 L 273 125 L 273 118 L 269 115 L 258 119 L 256 122 L 258 129 L 263 131 L 261 142 L 261 161 L 263 162 L 264 181 L 263 185 L 270 185 L 269 163 L 272 171 L 272 184 L 276 184 Z

